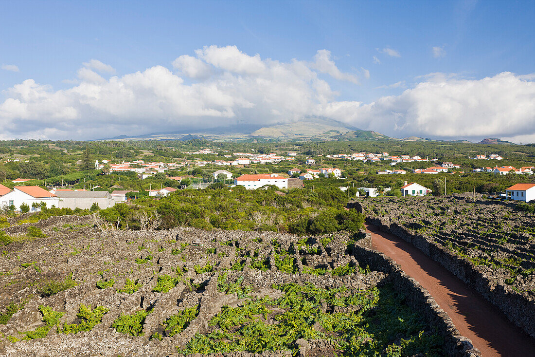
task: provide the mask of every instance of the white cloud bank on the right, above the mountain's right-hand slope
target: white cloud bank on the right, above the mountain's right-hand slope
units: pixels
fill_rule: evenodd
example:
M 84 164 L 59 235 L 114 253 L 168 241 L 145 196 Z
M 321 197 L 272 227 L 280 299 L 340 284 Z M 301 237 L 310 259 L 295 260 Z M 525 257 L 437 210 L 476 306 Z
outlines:
M 435 73 L 400 95 L 353 102 L 333 117 L 396 137 L 535 139 L 535 81 L 525 78 L 510 72 L 483 79 Z

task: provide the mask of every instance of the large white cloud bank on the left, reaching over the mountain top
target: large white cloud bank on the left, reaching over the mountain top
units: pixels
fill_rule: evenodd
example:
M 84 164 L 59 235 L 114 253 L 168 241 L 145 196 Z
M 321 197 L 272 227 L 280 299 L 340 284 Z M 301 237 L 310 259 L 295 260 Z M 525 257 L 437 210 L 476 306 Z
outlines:
M 25 80 L 7 89 L 0 102 L 3 137 L 88 139 L 205 129 L 237 120 L 296 121 L 338 94 L 308 61 L 261 59 L 234 46 L 205 47 L 196 54 L 174 61 L 180 75 L 154 66 L 105 79 L 85 65 L 77 83 L 65 90 Z

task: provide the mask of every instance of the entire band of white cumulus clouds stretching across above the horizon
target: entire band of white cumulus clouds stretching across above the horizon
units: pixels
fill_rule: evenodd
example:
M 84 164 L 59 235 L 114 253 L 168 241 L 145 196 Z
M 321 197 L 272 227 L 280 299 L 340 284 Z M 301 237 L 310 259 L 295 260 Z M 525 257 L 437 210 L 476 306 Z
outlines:
M 27 79 L 3 91 L 0 139 L 91 139 L 155 131 L 202 130 L 332 117 L 394 137 L 522 136 L 535 141 L 535 76 L 510 72 L 474 79 L 431 73 L 399 95 L 371 103 L 338 101 L 323 73 L 350 83 L 331 54 L 280 62 L 235 46 L 182 55 L 173 70 L 153 66 L 103 77 L 84 65 L 64 90 Z M 360 75 L 367 77 L 361 68 Z M 108 72 L 109 73 L 109 72 Z M 187 80 L 185 81 L 185 78 Z M 384 88 L 406 88 L 400 81 Z M 517 140 L 518 141 L 518 140 Z

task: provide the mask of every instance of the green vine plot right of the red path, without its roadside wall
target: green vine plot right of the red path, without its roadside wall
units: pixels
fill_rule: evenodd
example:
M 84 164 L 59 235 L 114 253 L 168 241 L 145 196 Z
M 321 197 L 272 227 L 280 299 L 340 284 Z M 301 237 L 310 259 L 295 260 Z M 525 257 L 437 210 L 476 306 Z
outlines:
M 535 215 L 532 204 L 478 195 L 376 198 L 360 203 L 371 218 L 395 223 L 438 243 L 483 271 L 494 284 L 535 298 Z

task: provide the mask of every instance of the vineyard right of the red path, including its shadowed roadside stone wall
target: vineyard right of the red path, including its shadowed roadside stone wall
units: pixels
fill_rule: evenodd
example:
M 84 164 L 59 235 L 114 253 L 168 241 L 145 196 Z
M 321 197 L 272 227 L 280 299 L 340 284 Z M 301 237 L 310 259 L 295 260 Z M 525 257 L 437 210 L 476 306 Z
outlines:
M 468 195 L 354 200 L 349 206 L 422 250 L 535 337 L 532 215 L 481 196 L 474 203 Z

